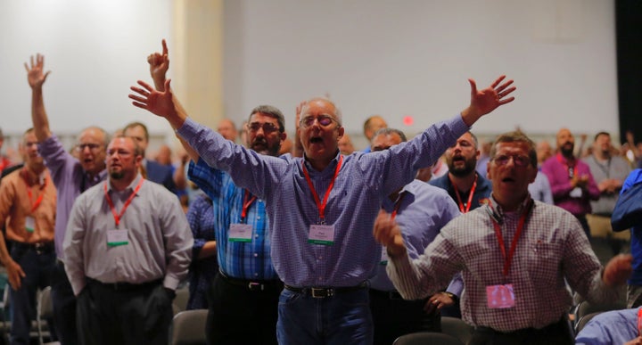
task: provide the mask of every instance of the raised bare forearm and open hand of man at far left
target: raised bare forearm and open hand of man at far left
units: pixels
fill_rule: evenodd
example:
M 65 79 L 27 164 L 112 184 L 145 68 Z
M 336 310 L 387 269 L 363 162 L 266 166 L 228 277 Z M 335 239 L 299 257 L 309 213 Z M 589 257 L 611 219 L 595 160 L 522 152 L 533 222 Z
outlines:
M 34 62 L 33 55 L 30 59 L 30 65 L 25 62 L 25 70 L 27 70 L 27 80 L 31 86 L 31 120 L 33 121 L 34 133 L 36 134 L 37 141 L 42 143 L 47 138 L 52 136 L 49 129 L 49 119 L 47 119 L 45 111 L 45 101 L 43 100 L 42 86 L 51 71 L 43 73 L 45 67 L 45 56 L 41 54 L 36 55 L 36 62 Z

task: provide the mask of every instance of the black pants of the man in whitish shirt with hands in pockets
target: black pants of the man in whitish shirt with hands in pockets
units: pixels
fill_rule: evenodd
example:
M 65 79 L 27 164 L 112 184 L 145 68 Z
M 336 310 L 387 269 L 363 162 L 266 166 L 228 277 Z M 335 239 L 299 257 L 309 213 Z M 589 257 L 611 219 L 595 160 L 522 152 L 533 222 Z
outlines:
M 78 339 L 84 345 L 167 344 L 173 297 L 160 281 L 114 288 L 88 280 L 78 294 Z

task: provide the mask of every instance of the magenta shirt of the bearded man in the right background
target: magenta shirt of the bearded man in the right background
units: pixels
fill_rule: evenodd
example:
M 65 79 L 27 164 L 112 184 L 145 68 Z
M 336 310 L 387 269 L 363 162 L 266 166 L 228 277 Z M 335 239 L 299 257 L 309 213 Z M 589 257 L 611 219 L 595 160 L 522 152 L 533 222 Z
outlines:
M 572 196 L 571 178 L 569 177 L 568 162 L 561 154 L 547 159 L 542 164 L 542 172 L 548 177 L 553 193 L 553 201 L 562 209 L 571 212 L 573 216 L 584 216 L 591 212 L 591 200 L 599 199 L 599 189 L 593 175 L 590 173 L 587 163 L 581 160 L 575 160 L 573 174 L 580 177 L 588 176 L 587 188 L 582 190 L 581 196 Z

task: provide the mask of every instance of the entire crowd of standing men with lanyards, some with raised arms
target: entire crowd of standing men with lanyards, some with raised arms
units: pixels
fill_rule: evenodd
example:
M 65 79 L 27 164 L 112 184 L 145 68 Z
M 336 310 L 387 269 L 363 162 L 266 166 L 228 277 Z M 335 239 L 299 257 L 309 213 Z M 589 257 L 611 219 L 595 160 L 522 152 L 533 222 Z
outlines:
M 611 226 L 637 183 L 631 137 L 624 154 L 606 132 L 576 150 L 568 128 L 555 151 L 522 130 L 480 142 L 473 123 L 514 101 L 504 76 L 469 79 L 464 110 L 413 138 L 369 117 L 361 151 L 323 97 L 295 107 L 292 138 L 271 105 L 214 130 L 174 94 L 165 41 L 147 61 L 152 85 L 129 98 L 176 131 L 176 160 L 166 145 L 152 159 L 144 119 L 63 147 L 45 58 L 25 63 L 33 127 L 22 165 L 0 160 L 12 344 L 29 343 L 45 286 L 62 344 L 167 343 L 182 284 L 211 344 L 391 344 L 440 332 L 441 316 L 472 325 L 473 344 L 570 344 L 572 292 L 642 304 L 640 242 Z

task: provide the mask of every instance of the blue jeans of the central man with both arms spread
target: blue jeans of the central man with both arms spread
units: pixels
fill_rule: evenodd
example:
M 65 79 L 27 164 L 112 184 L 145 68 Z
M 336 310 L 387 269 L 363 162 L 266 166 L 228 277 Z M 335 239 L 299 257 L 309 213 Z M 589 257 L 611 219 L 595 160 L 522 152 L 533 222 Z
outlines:
M 372 344 L 373 320 L 366 288 L 314 298 L 284 289 L 279 297 L 279 344 Z

